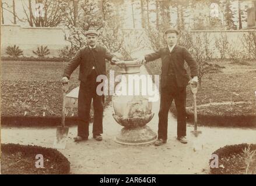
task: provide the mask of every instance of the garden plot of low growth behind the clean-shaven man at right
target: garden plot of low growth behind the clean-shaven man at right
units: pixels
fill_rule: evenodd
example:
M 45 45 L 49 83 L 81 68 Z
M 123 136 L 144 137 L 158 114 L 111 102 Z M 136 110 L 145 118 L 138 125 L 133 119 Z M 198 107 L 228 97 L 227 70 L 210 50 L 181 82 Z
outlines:
M 256 62 L 239 65 L 231 61 L 213 61 L 212 64 L 223 66 L 222 73 L 205 74 L 201 88 L 197 93 L 199 114 L 220 116 L 256 116 Z M 152 74 L 161 73 L 161 62 L 149 62 L 146 67 Z M 192 93 L 187 86 L 187 107 L 192 106 Z M 241 104 L 215 105 L 220 102 L 246 102 Z M 188 110 L 191 110 L 188 108 Z

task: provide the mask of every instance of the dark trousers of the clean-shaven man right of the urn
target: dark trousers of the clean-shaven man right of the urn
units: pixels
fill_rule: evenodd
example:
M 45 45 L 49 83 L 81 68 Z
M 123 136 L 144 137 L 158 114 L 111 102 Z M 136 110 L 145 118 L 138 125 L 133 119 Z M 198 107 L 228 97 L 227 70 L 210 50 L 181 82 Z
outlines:
M 173 99 L 177 110 L 177 137 L 186 135 L 186 87 L 178 87 L 175 76 L 169 76 L 167 85 L 161 89 L 158 138 L 167 140 L 168 113 Z

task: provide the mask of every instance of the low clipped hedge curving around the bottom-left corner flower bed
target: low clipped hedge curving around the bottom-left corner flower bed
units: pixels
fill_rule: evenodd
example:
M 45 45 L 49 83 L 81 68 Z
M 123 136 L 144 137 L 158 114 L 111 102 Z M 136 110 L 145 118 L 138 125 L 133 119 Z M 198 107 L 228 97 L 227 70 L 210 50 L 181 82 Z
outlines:
M 59 167 L 55 174 L 69 174 L 70 173 L 70 162 L 62 155 L 61 152 L 52 148 L 45 148 L 36 145 L 20 145 L 20 144 L 1 144 L 1 152 L 5 153 L 16 153 L 22 152 L 26 154 L 32 154 L 36 157 L 37 154 L 44 156 L 53 157 L 55 162 L 58 163 Z

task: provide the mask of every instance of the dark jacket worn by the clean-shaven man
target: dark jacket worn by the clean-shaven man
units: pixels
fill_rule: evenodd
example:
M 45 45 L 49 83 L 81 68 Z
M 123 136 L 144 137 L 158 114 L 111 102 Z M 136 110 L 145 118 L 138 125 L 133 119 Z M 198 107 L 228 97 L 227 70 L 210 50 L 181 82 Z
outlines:
M 169 51 L 168 46 L 160 48 L 158 51 L 150 53 L 145 56 L 147 62 L 162 59 L 162 73 L 161 73 L 161 87 L 165 87 L 168 81 L 168 67 L 169 62 L 173 63 L 173 70 L 176 74 L 178 87 L 185 87 L 188 85 L 190 78 L 188 77 L 187 70 L 184 67 L 184 61 L 187 62 L 190 67 L 191 77 L 198 76 L 198 64 L 192 58 L 190 52 L 184 47 L 176 44 L 173 51 Z

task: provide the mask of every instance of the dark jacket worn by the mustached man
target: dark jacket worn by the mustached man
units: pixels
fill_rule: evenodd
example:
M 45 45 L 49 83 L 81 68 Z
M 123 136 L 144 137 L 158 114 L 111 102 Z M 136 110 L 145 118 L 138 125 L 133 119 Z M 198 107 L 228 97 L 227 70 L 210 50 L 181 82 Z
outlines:
M 94 53 L 94 58 L 93 58 Z M 106 60 L 111 60 L 114 55 L 108 52 L 105 47 L 96 45 L 95 52 L 91 51 L 89 47 L 84 47 L 76 53 L 71 59 L 68 65 L 65 67 L 63 76 L 70 78 L 72 72 L 79 67 L 79 80 L 86 82 L 86 78 L 89 75 L 92 67 L 96 68 L 97 74 L 106 75 Z

